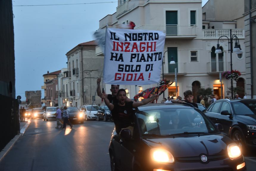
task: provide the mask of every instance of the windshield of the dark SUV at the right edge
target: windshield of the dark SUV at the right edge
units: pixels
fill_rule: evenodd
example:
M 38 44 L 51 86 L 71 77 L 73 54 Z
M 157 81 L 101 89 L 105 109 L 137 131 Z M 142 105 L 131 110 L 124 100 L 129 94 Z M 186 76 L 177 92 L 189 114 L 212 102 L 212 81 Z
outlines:
M 236 115 L 245 115 L 245 114 L 256 114 L 256 101 L 238 101 L 234 102 L 233 108 Z

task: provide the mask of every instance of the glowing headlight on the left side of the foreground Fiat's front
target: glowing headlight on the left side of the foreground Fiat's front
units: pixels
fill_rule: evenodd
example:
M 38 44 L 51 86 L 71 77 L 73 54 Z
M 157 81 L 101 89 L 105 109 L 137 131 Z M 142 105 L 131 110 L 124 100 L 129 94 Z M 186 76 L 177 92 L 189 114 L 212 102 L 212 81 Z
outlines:
M 150 150 L 151 158 L 159 163 L 173 163 L 174 157 L 170 151 L 161 148 L 152 148 Z

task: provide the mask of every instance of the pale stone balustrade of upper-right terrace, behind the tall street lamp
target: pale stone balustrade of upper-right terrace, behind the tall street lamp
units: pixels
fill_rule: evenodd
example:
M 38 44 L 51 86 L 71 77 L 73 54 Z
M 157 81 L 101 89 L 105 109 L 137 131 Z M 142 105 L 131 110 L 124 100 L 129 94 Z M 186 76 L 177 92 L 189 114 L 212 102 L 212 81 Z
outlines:
M 232 35 L 244 38 L 244 29 L 232 29 Z M 218 39 L 221 36 L 230 37 L 230 29 L 203 29 L 203 39 Z

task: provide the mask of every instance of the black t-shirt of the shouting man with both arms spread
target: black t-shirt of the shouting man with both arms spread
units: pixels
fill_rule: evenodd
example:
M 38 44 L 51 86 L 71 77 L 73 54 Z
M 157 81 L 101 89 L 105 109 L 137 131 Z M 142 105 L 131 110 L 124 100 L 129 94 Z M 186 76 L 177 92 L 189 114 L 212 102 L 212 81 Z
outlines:
M 118 134 L 122 128 L 132 126 L 132 103 L 133 101 L 125 102 L 124 106 L 119 106 L 118 103 L 114 103 L 114 109 L 111 111 L 111 114 L 114 119 L 115 130 Z

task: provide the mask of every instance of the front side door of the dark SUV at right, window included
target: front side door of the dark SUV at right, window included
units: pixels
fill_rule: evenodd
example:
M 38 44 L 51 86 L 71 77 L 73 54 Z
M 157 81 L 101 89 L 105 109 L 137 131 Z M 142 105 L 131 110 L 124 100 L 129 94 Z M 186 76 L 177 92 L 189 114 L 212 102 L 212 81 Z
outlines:
M 230 115 L 223 115 L 221 114 L 222 111 L 228 111 L 228 113 L 231 114 L 231 117 Z M 220 108 L 220 112 L 219 114 L 217 114 L 217 118 L 218 118 L 218 123 L 220 123 L 222 126 L 223 126 L 223 133 L 225 135 L 229 135 L 229 131 L 230 131 L 230 128 L 232 127 L 232 123 L 233 123 L 233 119 L 232 119 L 232 110 L 231 110 L 231 106 L 230 106 L 230 103 L 224 101 L 221 105 L 221 108 Z

